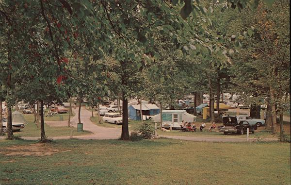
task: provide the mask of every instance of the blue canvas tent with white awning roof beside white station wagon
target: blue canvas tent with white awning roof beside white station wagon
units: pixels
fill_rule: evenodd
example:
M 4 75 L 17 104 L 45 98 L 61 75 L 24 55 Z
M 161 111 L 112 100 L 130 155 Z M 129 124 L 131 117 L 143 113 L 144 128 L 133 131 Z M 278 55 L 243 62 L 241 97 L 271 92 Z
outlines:
M 129 119 L 141 120 L 140 115 L 141 105 L 130 105 L 129 106 Z M 160 113 L 160 108 L 155 104 L 142 104 L 143 120 L 146 120 L 150 116 L 154 116 Z

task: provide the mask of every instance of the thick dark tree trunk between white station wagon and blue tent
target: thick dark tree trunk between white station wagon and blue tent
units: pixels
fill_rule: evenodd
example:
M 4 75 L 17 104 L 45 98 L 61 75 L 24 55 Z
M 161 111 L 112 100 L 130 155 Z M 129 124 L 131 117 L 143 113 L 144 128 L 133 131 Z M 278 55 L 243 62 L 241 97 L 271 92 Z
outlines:
M 129 140 L 129 113 L 128 113 L 128 100 L 125 97 L 125 92 L 122 91 L 122 130 L 121 139 Z

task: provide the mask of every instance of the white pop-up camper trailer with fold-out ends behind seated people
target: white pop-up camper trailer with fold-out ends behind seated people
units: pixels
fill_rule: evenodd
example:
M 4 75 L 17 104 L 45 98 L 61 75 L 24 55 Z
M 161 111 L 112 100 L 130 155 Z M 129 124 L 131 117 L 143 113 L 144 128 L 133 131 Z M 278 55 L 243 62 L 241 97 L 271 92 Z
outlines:
M 186 110 L 163 110 L 162 111 L 162 127 L 172 129 L 180 129 L 182 120 L 185 122 L 196 122 L 196 116 L 186 112 Z M 152 117 L 155 122 L 161 122 L 161 114 Z

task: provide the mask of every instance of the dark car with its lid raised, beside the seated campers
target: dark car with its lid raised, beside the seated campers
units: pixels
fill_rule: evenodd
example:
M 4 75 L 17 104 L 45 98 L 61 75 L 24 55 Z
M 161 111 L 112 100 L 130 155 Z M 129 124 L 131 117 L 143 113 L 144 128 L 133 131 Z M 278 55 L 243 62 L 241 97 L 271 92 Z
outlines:
M 223 125 L 218 127 L 219 132 L 223 132 L 223 134 L 227 135 L 228 133 L 237 133 L 243 135 L 247 132 L 247 128 L 249 132 L 255 133 L 257 130 L 257 125 L 251 125 L 247 121 L 239 121 L 236 117 L 226 116 L 223 117 Z

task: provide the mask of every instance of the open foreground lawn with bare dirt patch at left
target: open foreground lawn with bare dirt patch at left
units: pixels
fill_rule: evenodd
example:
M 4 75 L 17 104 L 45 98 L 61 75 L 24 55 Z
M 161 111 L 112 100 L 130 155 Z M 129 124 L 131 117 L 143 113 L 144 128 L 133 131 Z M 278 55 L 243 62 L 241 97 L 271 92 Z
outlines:
M 289 185 L 291 181 L 289 143 L 1 140 L 0 145 L 3 185 Z

